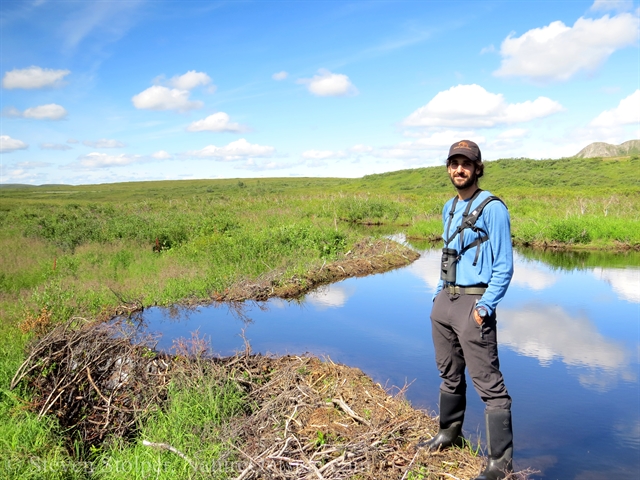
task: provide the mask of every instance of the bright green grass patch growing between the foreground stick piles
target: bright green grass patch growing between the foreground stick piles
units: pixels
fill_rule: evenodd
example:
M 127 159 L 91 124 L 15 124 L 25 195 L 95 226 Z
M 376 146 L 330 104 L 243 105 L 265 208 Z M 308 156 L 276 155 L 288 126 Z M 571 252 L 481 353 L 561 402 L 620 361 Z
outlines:
M 145 419 L 134 440 L 107 442 L 94 459 L 94 478 L 223 479 L 237 473 L 237 452 L 220 439 L 225 422 L 248 408 L 237 386 L 203 376 L 172 384 L 169 399 Z M 143 440 L 170 445 L 182 455 Z

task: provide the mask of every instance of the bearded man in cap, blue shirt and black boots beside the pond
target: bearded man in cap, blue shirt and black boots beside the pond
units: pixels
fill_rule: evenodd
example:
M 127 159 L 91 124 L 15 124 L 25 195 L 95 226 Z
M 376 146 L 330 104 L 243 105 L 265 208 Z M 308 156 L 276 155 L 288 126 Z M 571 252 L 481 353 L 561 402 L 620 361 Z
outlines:
M 509 212 L 478 188 L 484 165 L 474 142 L 462 140 L 451 146 L 447 171 L 458 195 L 442 212 L 445 248 L 431 312 L 442 378 L 440 429 L 422 446 L 437 450 L 463 444 L 466 367 L 486 405 L 489 461 L 476 480 L 502 479 L 513 471 L 511 397 L 500 373 L 496 338 L 496 306 L 513 275 Z M 493 201 L 485 204 L 489 197 Z

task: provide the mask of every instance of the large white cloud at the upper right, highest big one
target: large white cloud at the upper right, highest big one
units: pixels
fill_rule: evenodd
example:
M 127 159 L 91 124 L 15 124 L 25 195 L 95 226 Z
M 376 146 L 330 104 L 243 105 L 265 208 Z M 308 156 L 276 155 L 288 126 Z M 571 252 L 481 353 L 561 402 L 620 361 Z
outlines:
M 593 72 L 613 52 L 637 41 L 638 20 L 629 13 L 579 18 L 573 27 L 555 21 L 520 37 L 510 34 L 502 42 L 502 64 L 494 75 L 568 80 L 580 71 Z

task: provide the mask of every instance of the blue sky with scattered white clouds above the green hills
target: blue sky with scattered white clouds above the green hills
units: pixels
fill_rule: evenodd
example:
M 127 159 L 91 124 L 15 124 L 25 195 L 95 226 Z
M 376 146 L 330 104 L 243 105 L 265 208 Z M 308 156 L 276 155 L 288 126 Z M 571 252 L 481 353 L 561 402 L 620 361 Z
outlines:
M 632 0 L 0 0 L 0 183 L 362 177 L 640 138 Z

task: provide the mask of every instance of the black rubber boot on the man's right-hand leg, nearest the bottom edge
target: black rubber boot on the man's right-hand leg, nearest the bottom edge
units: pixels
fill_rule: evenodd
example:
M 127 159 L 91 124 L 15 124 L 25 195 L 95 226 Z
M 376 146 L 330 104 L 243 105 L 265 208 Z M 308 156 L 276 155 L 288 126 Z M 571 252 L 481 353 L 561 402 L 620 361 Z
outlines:
M 485 419 L 489 461 L 487 468 L 475 480 L 501 480 L 513 473 L 511 410 L 488 410 Z

